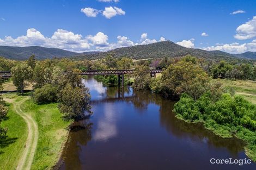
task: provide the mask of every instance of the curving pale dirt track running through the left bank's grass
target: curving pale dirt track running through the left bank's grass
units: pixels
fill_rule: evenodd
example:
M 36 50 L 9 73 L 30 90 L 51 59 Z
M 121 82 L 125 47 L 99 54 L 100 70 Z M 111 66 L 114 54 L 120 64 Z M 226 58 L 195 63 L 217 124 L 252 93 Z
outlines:
M 16 114 L 20 115 L 25 120 L 28 127 L 28 137 L 27 137 L 26 145 L 24 147 L 25 149 L 23 150 L 21 158 L 19 158 L 20 160 L 16 168 L 17 170 L 31 169 L 36 145 L 38 143 L 38 125 L 36 124 L 34 119 L 31 117 L 31 115 L 22 111 L 21 109 L 22 104 L 26 102 L 26 100 L 28 99 L 29 97 L 26 97 L 20 100 L 19 102 L 15 102 L 13 99 L 4 98 L 5 101 L 9 103 L 13 103 Z

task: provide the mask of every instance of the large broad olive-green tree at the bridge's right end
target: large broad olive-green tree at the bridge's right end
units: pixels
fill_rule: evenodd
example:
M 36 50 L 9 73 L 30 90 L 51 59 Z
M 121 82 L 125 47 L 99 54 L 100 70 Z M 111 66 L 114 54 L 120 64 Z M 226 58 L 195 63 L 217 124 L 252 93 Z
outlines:
M 197 61 L 185 58 L 171 64 L 162 73 L 161 80 L 163 90 L 174 98 L 186 92 L 197 99 L 208 90 L 210 78 Z

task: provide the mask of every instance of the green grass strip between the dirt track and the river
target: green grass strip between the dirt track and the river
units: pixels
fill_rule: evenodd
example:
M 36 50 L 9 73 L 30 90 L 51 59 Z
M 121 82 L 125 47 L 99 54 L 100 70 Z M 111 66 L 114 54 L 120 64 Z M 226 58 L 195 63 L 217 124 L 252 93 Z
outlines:
M 36 105 L 27 100 L 22 106 L 38 123 L 39 139 L 32 169 L 50 169 L 56 164 L 66 141 L 69 122 L 64 122 L 57 104 Z

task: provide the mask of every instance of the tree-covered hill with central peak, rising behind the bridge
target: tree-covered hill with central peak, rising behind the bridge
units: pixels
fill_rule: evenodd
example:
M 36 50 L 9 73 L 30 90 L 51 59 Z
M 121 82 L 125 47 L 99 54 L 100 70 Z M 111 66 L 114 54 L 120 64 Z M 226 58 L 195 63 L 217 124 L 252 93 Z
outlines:
M 151 43 L 149 45 L 137 45 L 131 47 L 123 47 L 113 49 L 108 52 L 94 53 L 94 54 L 80 54 L 74 56 L 74 59 L 99 59 L 104 58 L 106 55 L 112 54 L 115 57 L 127 56 L 133 59 L 147 59 L 147 58 L 160 58 L 160 57 L 176 57 L 184 55 L 194 55 L 198 58 L 206 58 L 210 60 L 219 59 L 235 59 L 233 54 L 225 53 L 222 51 L 205 51 L 203 49 L 186 48 L 182 47 L 172 41 L 162 41 Z

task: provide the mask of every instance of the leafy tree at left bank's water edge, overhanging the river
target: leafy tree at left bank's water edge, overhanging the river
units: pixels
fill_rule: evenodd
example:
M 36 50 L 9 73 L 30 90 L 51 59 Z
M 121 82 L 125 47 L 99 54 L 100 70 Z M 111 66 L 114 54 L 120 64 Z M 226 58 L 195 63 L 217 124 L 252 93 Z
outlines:
M 60 93 L 58 108 L 63 117 L 70 120 L 70 128 L 73 119 L 76 121 L 83 118 L 86 112 L 92 114 L 89 89 L 85 86 L 73 87 L 68 83 Z

